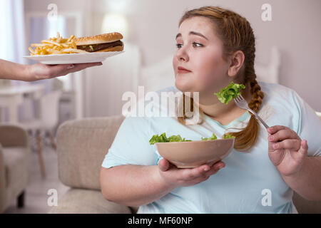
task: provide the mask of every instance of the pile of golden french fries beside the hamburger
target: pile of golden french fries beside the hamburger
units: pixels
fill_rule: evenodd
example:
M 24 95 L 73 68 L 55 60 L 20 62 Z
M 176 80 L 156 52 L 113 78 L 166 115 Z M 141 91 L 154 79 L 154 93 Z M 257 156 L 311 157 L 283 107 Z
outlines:
M 29 47 L 30 55 L 52 55 L 52 54 L 66 54 L 66 53 L 88 53 L 77 49 L 75 43 L 76 36 L 71 35 L 69 38 L 62 38 L 60 33 L 57 37 L 49 38 L 49 40 L 42 40 L 41 43 L 31 43 Z M 35 47 L 32 48 L 32 47 Z

